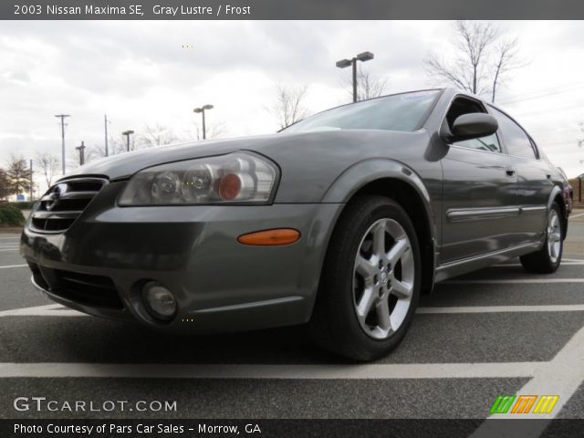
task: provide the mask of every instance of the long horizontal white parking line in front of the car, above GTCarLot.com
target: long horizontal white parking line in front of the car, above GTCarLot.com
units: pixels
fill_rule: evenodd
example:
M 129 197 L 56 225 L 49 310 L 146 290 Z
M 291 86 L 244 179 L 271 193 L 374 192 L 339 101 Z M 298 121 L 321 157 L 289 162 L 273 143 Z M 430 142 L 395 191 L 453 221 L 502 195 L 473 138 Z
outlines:
M 0 378 L 469 379 L 531 377 L 541 362 L 364 365 L 0 363 Z

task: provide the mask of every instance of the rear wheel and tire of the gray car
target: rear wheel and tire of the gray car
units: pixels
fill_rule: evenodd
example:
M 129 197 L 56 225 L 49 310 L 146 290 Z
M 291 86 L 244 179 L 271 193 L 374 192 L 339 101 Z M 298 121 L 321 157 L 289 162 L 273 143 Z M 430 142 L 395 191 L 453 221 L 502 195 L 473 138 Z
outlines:
M 563 231 L 558 203 L 552 203 L 547 214 L 546 241 L 539 251 L 519 257 L 521 265 L 536 274 L 556 272 L 564 251 Z

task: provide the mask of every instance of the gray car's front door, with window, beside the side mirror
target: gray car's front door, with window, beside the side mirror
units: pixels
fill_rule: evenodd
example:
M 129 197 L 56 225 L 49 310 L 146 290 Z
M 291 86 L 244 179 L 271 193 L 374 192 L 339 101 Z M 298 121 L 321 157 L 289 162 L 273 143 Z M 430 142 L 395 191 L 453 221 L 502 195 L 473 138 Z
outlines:
M 466 113 L 487 112 L 479 100 L 457 97 L 443 129 Z M 441 263 L 516 244 L 517 174 L 496 134 L 448 145 L 443 164 Z

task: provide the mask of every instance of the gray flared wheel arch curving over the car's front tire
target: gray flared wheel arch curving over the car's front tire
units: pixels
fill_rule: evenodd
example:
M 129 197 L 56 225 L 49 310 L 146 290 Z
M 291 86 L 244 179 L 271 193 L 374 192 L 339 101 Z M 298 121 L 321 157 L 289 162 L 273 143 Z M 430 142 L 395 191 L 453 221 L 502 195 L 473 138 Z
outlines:
M 387 196 L 406 211 L 420 244 L 422 293 L 430 293 L 434 284 L 437 243 L 430 194 L 422 183 L 422 178 L 401 162 L 387 159 L 366 160 L 343 172 L 328 188 L 322 202 L 350 203 L 351 199 L 362 194 Z

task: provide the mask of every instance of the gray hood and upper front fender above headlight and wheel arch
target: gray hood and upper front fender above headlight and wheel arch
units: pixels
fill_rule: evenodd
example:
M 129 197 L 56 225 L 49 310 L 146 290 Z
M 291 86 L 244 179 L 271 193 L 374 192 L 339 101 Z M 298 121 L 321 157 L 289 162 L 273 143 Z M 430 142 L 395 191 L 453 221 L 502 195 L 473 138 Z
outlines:
M 254 151 L 280 168 L 276 203 L 318 203 L 328 188 L 351 166 L 366 160 L 391 160 L 413 166 L 432 165 L 424 160 L 426 130 L 331 130 L 280 133 L 224 141 L 197 141 L 121 153 L 78 168 L 76 175 L 106 175 L 124 180 L 142 169 L 165 162 Z

